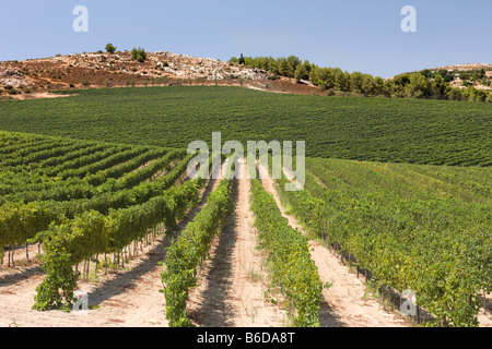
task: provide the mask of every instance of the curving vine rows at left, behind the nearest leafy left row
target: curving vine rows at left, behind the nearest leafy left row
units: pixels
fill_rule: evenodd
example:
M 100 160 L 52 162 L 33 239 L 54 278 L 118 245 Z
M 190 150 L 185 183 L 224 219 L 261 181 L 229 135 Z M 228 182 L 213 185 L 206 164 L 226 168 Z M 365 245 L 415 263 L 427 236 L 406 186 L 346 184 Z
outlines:
M 186 151 L 94 145 L 3 132 L 0 144 L 0 250 L 31 239 L 42 241 L 50 224 L 59 225 L 66 217 L 90 210 L 109 215 L 112 209 L 162 196 L 194 156 L 183 159 Z M 149 159 L 155 160 L 138 169 Z M 172 161 L 179 163 L 172 167 Z M 161 170 L 167 173 L 150 180 Z M 130 174 L 116 180 L 127 172 Z

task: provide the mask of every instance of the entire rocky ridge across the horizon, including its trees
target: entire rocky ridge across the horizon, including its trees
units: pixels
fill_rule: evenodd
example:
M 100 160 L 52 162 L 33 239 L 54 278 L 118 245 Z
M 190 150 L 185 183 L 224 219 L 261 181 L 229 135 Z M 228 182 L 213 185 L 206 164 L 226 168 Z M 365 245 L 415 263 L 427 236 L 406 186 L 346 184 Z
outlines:
M 293 62 L 290 61 L 291 59 Z M 147 60 L 139 62 L 132 59 L 129 51 L 114 53 L 98 51 L 57 55 L 25 61 L 7 61 L 0 62 L 0 100 L 59 97 L 60 95 L 52 94 L 55 91 L 165 86 L 169 84 L 243 86 L 297 95 L 492 100 L 490 97 L 487 98 L 487 95 L 479 98 L 475 94 L 456 96 L 456 94 L 460 95 L 460 89 L 465 93 L 468 86 L 473 86 L 482 93 L 492 91 L 492 64 L 456 64 L 419 71 L 427 77 L 429 84 L 432 84 L 436 74 L 442 75 L 445 86 L 436 88 L 456 88 L 454 95 L 450 96 L 447 92 L 441 95 L 432 95 L 429 91 L 415 93 L 413 91 L 417 88 L 415 86 L 407 89 L 391 86 L 390 82 L 399 75 L 385 80 L 387 86 L 383 86 L 384 83 L 380 79 L 377 81 L 377 79 L 371 77 L 365 82 L 364 79 L 370 75 L 359 72 L 353 74 L 344 72 L 344 79 L 350 86 L 337 89 L 339 81 L 335 75 L 342 72 L 340 69 L 318 68 L 308 62 L 303 63 L 302 60 L 292 56 L 289 59 L 273 60 L 280 67 L 272 70 L 271 64 L 265 64 L 269 60 L 272 59 L 247 57 L 246 65 L 242 65 L 236 58 L 231 59 L 230 62 L 223 62 L 218 59 L 157 51 L 147 52 Z M 294 63 L 300 65 L 300 74 L 282 72 L 283 65 Z M 297 72 L 298 69 L 292 68 L 291 70 Z M 317 73 L 307 74 L 311 69 L 316 69 Z M 304 74 L 301 74 L 302 71 Z M 398 82 L 398 84 L 400 83 L 401 81 Z M 429 87 L 427 89 L 433 88 Z M 432 96 L 427 96 L 429 94 Z

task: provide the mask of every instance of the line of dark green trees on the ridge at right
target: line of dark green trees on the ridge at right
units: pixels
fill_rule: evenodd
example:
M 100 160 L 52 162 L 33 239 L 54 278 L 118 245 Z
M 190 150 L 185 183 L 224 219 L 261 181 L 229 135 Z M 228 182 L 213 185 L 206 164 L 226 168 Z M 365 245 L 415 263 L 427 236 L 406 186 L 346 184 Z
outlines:
M 393 79 L 383 79 L 361 72 L 349 73 L 340 68 L 323 68 L 301 60 L 295 56 L 288 58 L 244 57 L 245 64 L 280 76 L 295 79 L 297 82 L 309 81 L 325 89 L 328 95 L 349 93 L 364 96 L 384 96 L 394 98 L 427 98 L 492 103 L 492 93 L 477 89 L 472 85 L 466 88 L 452 87 L 447 70 L 432 73 L 427 71 L 403 73 Z M 230 62 L 238 63 L 233 57 Z

